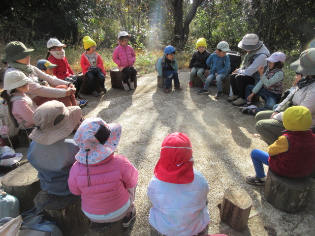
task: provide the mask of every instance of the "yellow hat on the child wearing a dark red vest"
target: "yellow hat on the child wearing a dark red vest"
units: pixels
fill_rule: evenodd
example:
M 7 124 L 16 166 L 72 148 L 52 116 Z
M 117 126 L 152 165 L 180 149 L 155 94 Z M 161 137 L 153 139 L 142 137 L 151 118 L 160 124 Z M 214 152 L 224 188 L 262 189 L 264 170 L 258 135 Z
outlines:
M 311 127 L 312 114 L 303 106 L 289 107 L 282 117 L 284 128 L 289 131 L 306 131 Z

